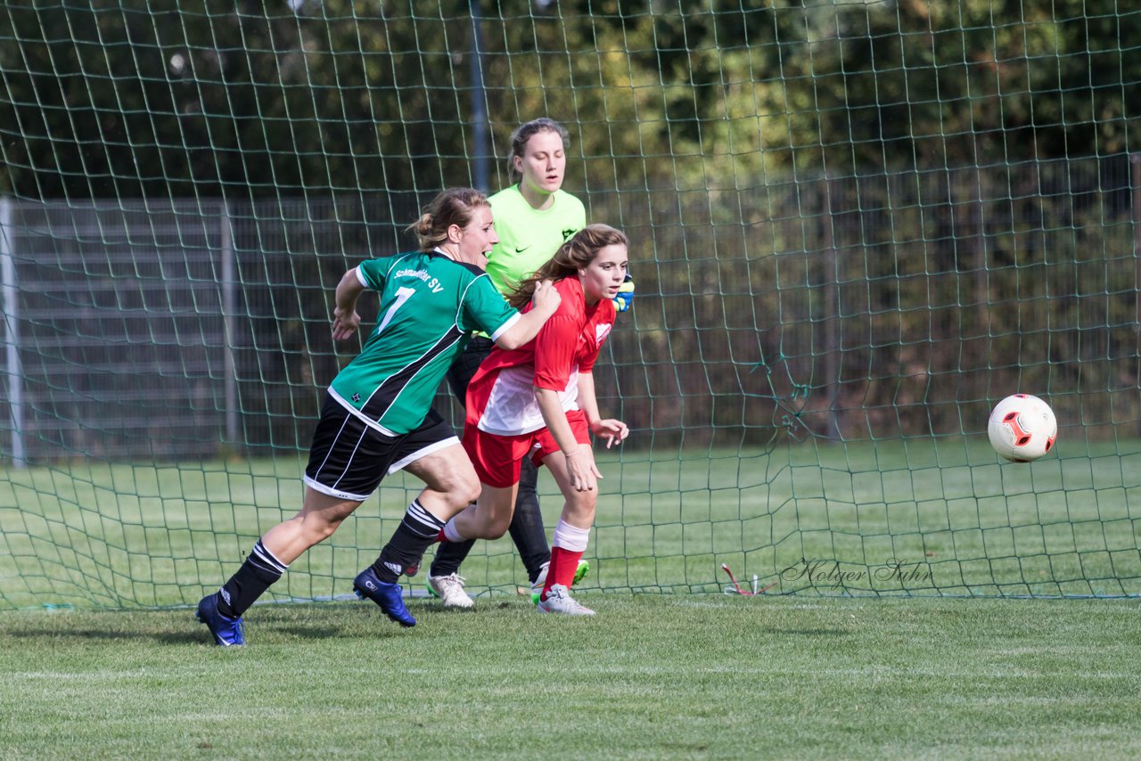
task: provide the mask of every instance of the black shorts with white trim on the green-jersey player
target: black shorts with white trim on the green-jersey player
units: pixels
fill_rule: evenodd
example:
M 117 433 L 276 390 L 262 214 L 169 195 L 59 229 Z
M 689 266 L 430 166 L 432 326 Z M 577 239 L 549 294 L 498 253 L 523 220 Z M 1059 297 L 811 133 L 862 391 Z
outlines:
M 435 410 L 428 411 L 415 430 L 385 436 L 326 394 L 309 447 L 305 483 L 322 494 L 364 502 L 385 476 L 459 444 L 455 431 Z

